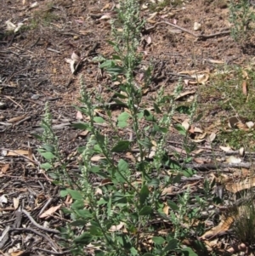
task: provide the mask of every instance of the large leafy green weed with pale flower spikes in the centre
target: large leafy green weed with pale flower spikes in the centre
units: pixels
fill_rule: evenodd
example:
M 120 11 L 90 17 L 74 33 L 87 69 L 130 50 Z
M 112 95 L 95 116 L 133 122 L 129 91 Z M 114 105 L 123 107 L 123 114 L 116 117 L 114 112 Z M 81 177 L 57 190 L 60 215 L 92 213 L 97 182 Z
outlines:
M 110 42 L 116 54 L 100 65 L 111 74 L 113 81 L 121 84 L 113 91 L 113 99 L 128 111 L 122 111 L 113 122 L 111 105 L 107 105 L 98 92 L 89 92 L 81 77 L 84 106 L 78 109 L 89 122 L 74 126 L 88 130 L 89 136 L 87 145 L 80 149 L 81 174 L 73 179 L 72 186 L 63 182 L 65 189 L 61 191 L 61 196 L 70 195 L 73 199 L 71 208 L 63 209 L 72 221 L 61 230 L 65 238 L 72 239 L 72 253 L 76 255 L 88 255 L 90 251 L 109 256 L 163 256 L 171 252 L 196 255 L 190 247 L 181 245 L 184 238 L 181 225 L 190 191 L 183 199 L 179 197 L 180 206 L 169 202 L 174 212 L 170 217 L 163 212 L 165 204 L 161 200 L 163 188 L 180 181 L 179 174 L 171 177 L 164 168 L 178 166 L 171 162 L 164 148 L 175 111 L 174 98 L 181 86 L 178 83 L 172 97 L 166 99 L 161 88 L 156 99 L 152 99 L 158 120 L 144 106 L 143 89 L 134 77 L 141 63 L 137 48 L 143 22 L 138 4 L 137 0 L 121 2 L 119 19 L 112 29 L 115 41 Z M 122 26 L 121 33 L 116 26 Z M 144 87 L 149 85 L 150 71 L 150 67 L 144 71 Z M 95 116 L 99 107 L 105 112 L 104 118 Z M 111 135 L 104 134 L 99 123 L 108 124 Z M 125 134 L 132 134 L 132 138 L 126 138 Z M 133 161 L 127 161 L 125 153 L 133 148 L 138 149 L 138 153 L 133 154 Z M 154 156 L 148 161 L 151 152 Z M 100 156 L 99 162 L 92 162 L 92 156 Z M 160 178 L 160 174 L 165 174 L 161 175 L 164 178 Z M 101 185 L 94 185 L 94 179 L 101 181 Z M 160 224 L 155 224 L 156 219 L 162 220 Z M 173 228 L 162 235 L 160 231 L 166 221 Z

